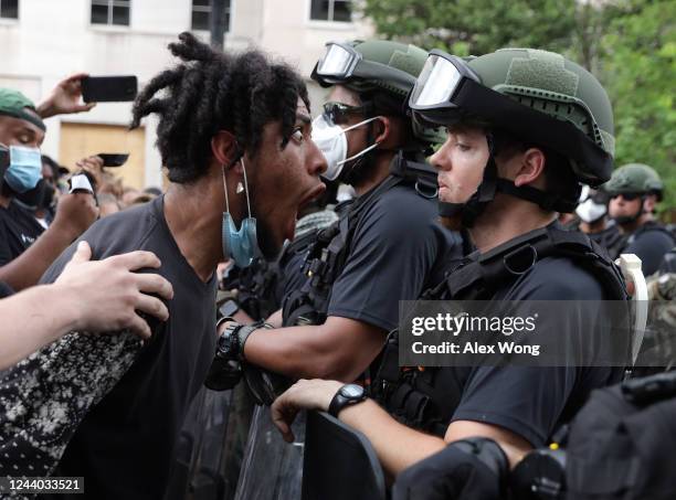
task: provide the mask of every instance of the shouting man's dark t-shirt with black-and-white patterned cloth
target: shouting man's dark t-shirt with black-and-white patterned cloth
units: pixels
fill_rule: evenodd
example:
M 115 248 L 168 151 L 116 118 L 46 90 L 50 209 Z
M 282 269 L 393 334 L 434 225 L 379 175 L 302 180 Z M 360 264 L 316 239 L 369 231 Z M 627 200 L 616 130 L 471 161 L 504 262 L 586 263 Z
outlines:
M 162 196 L 98 221 L 81 240 L 98 259 L 154 252 L 161 260 L 159 274 L 173 285 L 168 321 L 154 321 L 144 345 L 129 332 L 65 336 L 20 363 L 0 396 L 18 392 L 22 400 L 14 408 L 34 414 L 39 424 L 25 429 L 28 443 L 17 444 L 34 465 L 44 464 L 42 474 L 67 444 L 53 474 L 85 477 L 84 498 L 159 499 L 181 424 L 213 358 L 215 273 L 203 283 L 188 264 L 167 226 Z M 74 249 L 59 257 L 42 283 L 56 279 Z M 47 390 L 40 389 L 43 383 Z M 0 424 L 0 434 L 11 432 L 12 423 Z M 22 465 L 19 456 L 15 460 Z

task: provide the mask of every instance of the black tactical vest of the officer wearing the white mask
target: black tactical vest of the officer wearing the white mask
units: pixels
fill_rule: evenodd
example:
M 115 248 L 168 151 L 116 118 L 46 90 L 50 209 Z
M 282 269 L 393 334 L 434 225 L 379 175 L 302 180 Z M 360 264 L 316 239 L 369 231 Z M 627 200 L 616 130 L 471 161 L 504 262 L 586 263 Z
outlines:
M 323 325 L 331 296 L 331 287 L 342 272 L 349 255 L 351 238 L 361 216 L 395 185 L 410 185 L 423 198 L 437 195 L 436 172 L 426 163 L 406 160 L 400 152 L 390 166 L 389 177 L 369 193 L 358 198 L 340 214 L 340 219 L 317 233 L 308 245 L 303 274 L 303 287 L 285 297 L 284 326 Z

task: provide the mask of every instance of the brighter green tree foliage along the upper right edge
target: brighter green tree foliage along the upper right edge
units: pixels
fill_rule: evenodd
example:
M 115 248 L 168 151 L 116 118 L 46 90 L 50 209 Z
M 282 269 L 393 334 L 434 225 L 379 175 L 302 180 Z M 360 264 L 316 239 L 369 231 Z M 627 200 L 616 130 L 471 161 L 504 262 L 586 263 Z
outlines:
M 654 167 L 676 208 L 676 2 L 633 2 L 603 36 L 602 81 L 613 100 L 615 163 Z

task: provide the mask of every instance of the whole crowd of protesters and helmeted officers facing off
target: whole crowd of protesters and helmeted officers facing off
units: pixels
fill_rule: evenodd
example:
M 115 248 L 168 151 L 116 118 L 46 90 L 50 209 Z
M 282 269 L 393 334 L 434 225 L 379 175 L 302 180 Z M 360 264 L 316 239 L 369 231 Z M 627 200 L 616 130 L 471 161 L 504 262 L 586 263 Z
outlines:
M 567 470 L 604 457 L 580 451 L 588 408 L 641 381 L 631 358 L 399 362 L 401 301 L 630 305 L 637 285 L 622 254 L 641 259 L 667 307 L 651 316 L 653 338 L 676 330 L 676 240 L 656 215 L 664 182 L 641 158 L 614 168 L 612 106 L 591 73 L 537 49 L 457 57 L 330 42 L 311 74 L 326 102 L 310 109 L 303 77 L 258 50 L 223 52 L 190 33 L 169 50 L 179 61 L 130 117 L 135 128 L 157 115 L 163 192 L 124 187 L 96 156 L 64 169 L 40 155 L 44 118 L 91 109 L 86 75 L 39 105 L 0 89 L 0 476 L 84 477 L 93 499 L 181 498 L 179 438 L 201 425 L 191 405 L 204 387 L 232 401 L 212 444 L 229 443 L 231 485 L 218 498 L 250 472 L 250 427 L 264 417 L 302 439 L 305 409 L 366 436 L 395 499 L 510 498 L 519 467 L 570 426 Z M 71 189 L 77 174 L 89 192 Z M 338 201 L 346 184 L 353 196 Z M 582 308 L 539 328 L 594 351 L 633 328 L 623 321 Z M 672 362 L 651 373 L 668 382 Z M 649 402 L 676 416 L 667 382 Z M 577 474 L 560 497 L 531 498 L 670 498 L 649 467 L 659 450 L 642 451 L 617 480 L 635 496 Z

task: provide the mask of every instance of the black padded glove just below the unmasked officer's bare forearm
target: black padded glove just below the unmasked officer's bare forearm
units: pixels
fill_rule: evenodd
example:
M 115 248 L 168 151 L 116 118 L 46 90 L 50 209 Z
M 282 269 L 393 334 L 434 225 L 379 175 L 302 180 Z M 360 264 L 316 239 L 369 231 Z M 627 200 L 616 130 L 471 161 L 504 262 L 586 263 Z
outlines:
M 392 499 L 501 500 L 508 470 L 507 456 L 493 439 L 463 439 L 402 471 Z

